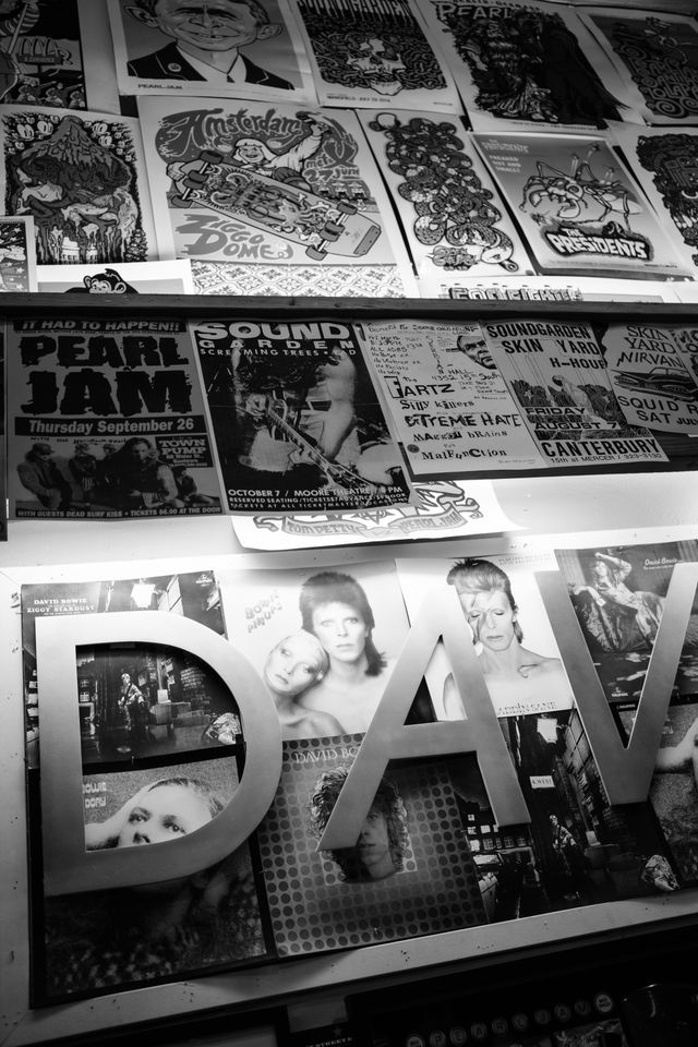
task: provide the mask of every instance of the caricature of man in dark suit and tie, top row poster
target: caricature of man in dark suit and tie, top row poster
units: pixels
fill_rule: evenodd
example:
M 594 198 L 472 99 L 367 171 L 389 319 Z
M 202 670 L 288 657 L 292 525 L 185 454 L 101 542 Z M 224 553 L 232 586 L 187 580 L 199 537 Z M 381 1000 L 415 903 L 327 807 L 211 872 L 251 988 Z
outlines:
M 293 84 L 256 65 L 242 49 L 278 36 L 258 0 L 133 0 L 125 11 L 171 43 L 128 63 L 131 76 L 147 80 L 261 84 L 290 91 Z

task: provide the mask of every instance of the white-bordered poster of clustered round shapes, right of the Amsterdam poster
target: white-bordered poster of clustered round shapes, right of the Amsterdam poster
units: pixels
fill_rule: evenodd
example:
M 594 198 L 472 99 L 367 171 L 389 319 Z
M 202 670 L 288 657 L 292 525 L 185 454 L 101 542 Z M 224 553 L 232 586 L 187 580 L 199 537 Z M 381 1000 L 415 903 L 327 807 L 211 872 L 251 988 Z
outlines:
M 420 281 L 532 273 L 526 249 L 459 118 L 360 112 Z

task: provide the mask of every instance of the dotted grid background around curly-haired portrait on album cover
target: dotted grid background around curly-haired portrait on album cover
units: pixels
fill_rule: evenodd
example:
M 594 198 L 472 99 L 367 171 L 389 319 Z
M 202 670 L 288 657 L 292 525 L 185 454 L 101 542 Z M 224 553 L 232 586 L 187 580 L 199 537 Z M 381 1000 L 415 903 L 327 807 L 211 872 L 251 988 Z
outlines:
M 275 802 L 258 830 L 274 940 L 281 956 L 346 949 L 486 922 L 478 878 L 446 765 L 399 763 L 386 777 L 408 811 L 405 868 L 383 880 L 347 882 L 315 850 L 309 798 L 320 774 L 350 762 L 361 736 L 284 746 Z

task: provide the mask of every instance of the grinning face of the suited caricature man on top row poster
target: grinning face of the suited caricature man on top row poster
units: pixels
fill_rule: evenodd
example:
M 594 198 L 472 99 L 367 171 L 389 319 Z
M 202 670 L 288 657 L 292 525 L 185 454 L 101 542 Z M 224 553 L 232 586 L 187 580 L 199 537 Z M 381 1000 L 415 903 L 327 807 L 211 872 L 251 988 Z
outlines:
M 146 25 L 204 51 L 244 47 L 276 36 L 280 28 L 261 23 L 253 8 L 234 0 L 157 0 L 153 14 L 130 10 Z

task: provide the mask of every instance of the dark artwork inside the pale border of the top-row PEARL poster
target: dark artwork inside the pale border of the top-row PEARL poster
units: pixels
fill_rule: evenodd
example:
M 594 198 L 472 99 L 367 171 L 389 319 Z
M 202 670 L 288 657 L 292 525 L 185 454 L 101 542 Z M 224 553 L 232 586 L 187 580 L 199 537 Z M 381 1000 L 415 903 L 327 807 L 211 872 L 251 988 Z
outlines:
M 504 120 L 587 123 L 618 120 L 624 108 L 603 86 L 575 34 L 558 14 L 483 5 L 448 5 L 440 15 L 467 63 L 476 105 Z

